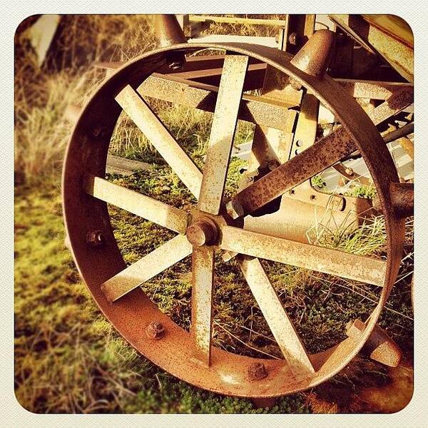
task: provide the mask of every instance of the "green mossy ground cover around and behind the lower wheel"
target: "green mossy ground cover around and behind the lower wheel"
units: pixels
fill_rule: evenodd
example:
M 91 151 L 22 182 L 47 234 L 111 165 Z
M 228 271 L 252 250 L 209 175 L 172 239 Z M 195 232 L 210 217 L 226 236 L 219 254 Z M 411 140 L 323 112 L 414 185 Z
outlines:
M 238 170 L 239 163 L 236 166 Z M 163 189 L 170 178 L 166 167 L 158 168 L 154 175 L 141 171 L 128 178 L 110 177 L 116 183 L 183 207 L 190 202 L 190 195 L 174 185 L 169 186 L 171 190 L 166 194 Z M 314 412 L 325 409 L 332 400 L 331 394 L 343 394 L 344 382 L 355 394 L 367 385 L 387 384 L 384 367 L 359 358 L 327 384 L 284 397 L 272 409 L 258 409 L 249 400 L 221 397 L 178 381 L 137 355 L 98 312 L 63 246 L 58 190 L 53 183 L 44 189 L 20 187 L 16 192 L 16 395 L 27 409 Z M 111 208 L 111 215 L 127 263 L 138 260 L 170 237 L 165 230 L 118 209 Z M 407 263 L 409 259 L 411 254 Z M 374 306 L 377 293 L 373 287 L 305 270 L 296 272 L 285 265 L 265 263 L 265 268 L 311 352 L 341 340 L 346 322 L 354 317 L 364 318 Z M 409 268 L 411 264 L 404 265 L 400 277 Z M 144 285 L 161 310 L 184 328 L 190 322 L 188 272 L 190 260 L 184 260 Z M 409 277 L 403 277 L 394 286 L 381 321 L 381 326 L 407 351 L 412 349 L 408 280 Z M 215 270 L 214 341 L 225 350 L 244 355 L 280 356 L 235 264 L 220 260 L 216 260 Z M 326 385 L 331 389 L 329 399 L 324 397 Z M 349 405 L 343 404 L 335 411 L 347 411 Z M 363 404 L 360 406 L 364 408 Z

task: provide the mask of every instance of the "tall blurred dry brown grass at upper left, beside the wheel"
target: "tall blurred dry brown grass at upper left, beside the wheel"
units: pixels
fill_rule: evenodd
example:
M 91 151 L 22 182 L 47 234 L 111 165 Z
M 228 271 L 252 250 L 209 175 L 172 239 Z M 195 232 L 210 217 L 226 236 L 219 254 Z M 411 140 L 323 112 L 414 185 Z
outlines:
M 61 18 L 44 65 L 27 37 L 33 18 L 15 36 L 15 170 L 29 183 L 61 166 L 71 131 L 64 113 L 82 104 L 100 81 L 95 61 L 126 61 L 153 49 L 151 16 L 70 15 Z

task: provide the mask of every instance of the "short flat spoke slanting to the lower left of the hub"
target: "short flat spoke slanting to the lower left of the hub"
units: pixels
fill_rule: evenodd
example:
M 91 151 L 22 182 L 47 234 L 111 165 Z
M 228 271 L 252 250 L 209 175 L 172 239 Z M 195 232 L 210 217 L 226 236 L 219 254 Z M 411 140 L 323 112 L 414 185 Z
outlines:
M 114 302 L 191 253 L 192 245 L 187 238 L 183 235 L 175 236 L 104 282 L 101 290 L 108 300 Z

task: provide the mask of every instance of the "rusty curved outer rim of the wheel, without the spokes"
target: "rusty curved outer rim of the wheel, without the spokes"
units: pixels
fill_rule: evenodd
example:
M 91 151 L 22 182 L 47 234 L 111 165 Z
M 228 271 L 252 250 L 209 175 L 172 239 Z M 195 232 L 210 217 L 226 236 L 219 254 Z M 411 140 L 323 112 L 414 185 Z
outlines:
M 330 350 L 310 355 L 313 372 L 294 370 L 287 360 L 245 357 L 215 347 L 211 347 L 210 355 L 207 358 L 203 345 L 199 346 L 199 351 L 203 352 L 205 357 L 198 357 L 198 352 L 195 352 L 194 335 L 185 332 L 163 314 L 139 287 L 113 303 L 107 300 L 104 294 L 106 290 L 104 289 L 103 292 L 101 288 L 104 282 L 108 282 L 126 268 L 113 236 L 106 203 L 87 193 L 88 182 L 89 187 L 93 186 L 91 177 L 103 177 L 105 174 L 108 146 L 113 128 L 116 126 L 122 110 L 121 106 L 116 103 L 115 97 L 123 93 L 127 85 L 130 85 L 132 95 L 132 88 L 138 87 L 153 71 L 164 65 L 165 52 L 195 51 L 204 48 L 227 49 L 230 56 L 238 58 L 243 56 L 257 58 L 282 73 L 287 73 L 310 89 L 332 113 L 335 113 L 343 128 L 352 137 L 353 142 L 360 149 L 376 185 L 387 232 L 387 263 L 384 267 L 382 295 L 367 322 L 365 332 L 358 340 L 347 338 Z M 243 67 L 238 67 L 239 70 L 242 71 Z M 235 76 L 235 72 L 233 75 Z M 63 169 L 63 211 L 73 258 L 98 306 L 118 332 L 136 350 L 176 377 L 204 389 L 241 397 L 275 397 L 315 386 L 339 372 L 359 352 L 377 322 L 397 275 L 404 239 L 404 220 L 394 215 L 392 210 L 389 184 L 398 183 L 399 179 L 389 152 L 381 141 L 370 118 L 352 98 L 340 93 L 340 87 L 332 79 L 327 76 L 322 80 L 312 78 L 292 66 L 290 56 L 275 49 L 243 44 L 215 46 L 195 44 L 191 48 L 187 45 L 178 45 L 145 54 L 128 63 L 103 83 L 83 109 L 68 145 Z M 220 148 L 217 155 L 221 157 L 224 153 L 225 151 Z M 193 172 L 194 178 L 197 173 Z M 188 183 L 191 182 L 192 178 L 188 179 Z M 91 193 L 90 190 L 89 193 Z M 205 213 L 206 210 L 217 210 L 218 200 L 215 202 L 212 200 L 213 198 L 205 198 L 204 209 L 201 211 Z M 211 213 L 212 218 L 213 215 Z M 222 214 L 220 217 L 224 220 L 227 216 Z M 183 218 L 178 218 L 174 223 L 175 231 L 183 233 L 184 223 Z M 221 225 L 221 221 L 215 223 L 220 226 L 220 235 L 222 235 L 221 240 L 216 244 L 220 248 L 226 249 L 221 246 L 225 230 L 228 230 L 228 233 L 235 233 L 235 229 L 238 228 L 236 225 Z M 88 233 L 96 230 L 101 230 L 103 233 L 104 242 L 100 247 L 88 245 Z M 228 237 L 229 247 L 233 236 Z M 183 253 L 186 253 L 189 248 L 191 252 L 188 240 L 183 238 L 183 235 L 178 235 L 178 237 L 182 237 L 178 240 L 180 240 L 180 248 Z M 230 248 L 227 249 L 230 250 Z M 201 245 L 200 249 L 193 250 L 193 253 L 194 265 L 198 265 L 198 263 L 204 265 L 206 260 L 212 260 L 213 257 L 210 245 Z M 244 259 L 241 263 L 244 264 L 247 271 L 250 270 L 253 274 L 254 272 L 260 273 L 258 265 L 252 265 L 250 260 Z M 202 275 L 201 277 L 204 275 L 205 278 L 207 277 L 208 274 L 203 268 L 198 271 Z M 161 322 L 163 325 L 162 340 L 148 339 L 146 329 L 151 322 Z M 204 325 L 201 327 L 202 330 L 203 327 Z M 207 326 L 205 325 L 205 327 Z M 301 358 L 300 362 L 302 362 Z M 210 365 L 206 364 L 208 360 Z M 250 379 L 249 367 L 257 364 L 263 364 L 266 373 L 261 379 Z

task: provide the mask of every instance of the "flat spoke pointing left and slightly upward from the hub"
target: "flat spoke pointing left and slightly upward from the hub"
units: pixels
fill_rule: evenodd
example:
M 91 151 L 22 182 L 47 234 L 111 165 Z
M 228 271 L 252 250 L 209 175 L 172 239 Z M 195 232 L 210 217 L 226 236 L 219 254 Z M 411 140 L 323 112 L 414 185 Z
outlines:
M 188 213 L 171 207 L 159 200 L 149 198 L 141 193 L 110 183 L 103 178 L 88 175 L 83 188 L 97 199 L 116 205 L 118 208 L 139 215 L 158 225 L 185 234 L 188 225 Z

